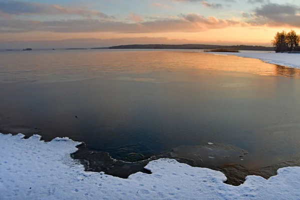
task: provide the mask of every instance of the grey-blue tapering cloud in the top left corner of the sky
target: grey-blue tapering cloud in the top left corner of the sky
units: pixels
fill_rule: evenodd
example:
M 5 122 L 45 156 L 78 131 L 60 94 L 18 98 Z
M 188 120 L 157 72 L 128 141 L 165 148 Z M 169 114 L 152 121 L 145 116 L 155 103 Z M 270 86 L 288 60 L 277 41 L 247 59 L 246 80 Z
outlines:
M 114 18 L 103 12 L 90 11 L 82 8 L 66 8 L 59 5 L 25 2 L 16 0 L 0 0 L 0 11 L 11 15 L 33 15 L 33 14 L 75 14 L 82 16 L 98 16 L 101 18 Z

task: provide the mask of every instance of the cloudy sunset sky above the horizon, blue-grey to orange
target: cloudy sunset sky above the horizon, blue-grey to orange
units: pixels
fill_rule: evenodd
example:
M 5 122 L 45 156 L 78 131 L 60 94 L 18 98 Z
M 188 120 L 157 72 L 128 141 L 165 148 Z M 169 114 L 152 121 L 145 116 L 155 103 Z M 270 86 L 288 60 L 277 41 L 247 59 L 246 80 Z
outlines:
M 0 0 L 0 48 L 132 43 L 270 46 L 300 0 Z

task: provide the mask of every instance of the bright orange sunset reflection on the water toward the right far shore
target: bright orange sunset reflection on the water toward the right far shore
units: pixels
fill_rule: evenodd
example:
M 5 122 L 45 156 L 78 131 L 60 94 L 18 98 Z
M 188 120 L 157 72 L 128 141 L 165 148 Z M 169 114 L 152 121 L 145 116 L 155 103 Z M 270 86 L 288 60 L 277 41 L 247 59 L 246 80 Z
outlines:
M 100 55 L 100 54 L 99 54 Z M 300 70 L 275 64 L 265 63 L 259 59 L 244 58 L 234 55 L 217 55 L 195 51 L 108 51 L 104 60 L 113 62 L 113 69 L 134 70 L 179 70 L 200 68 L 247 72 L 259 75 L 276 75 L 300 77 Z M 128 65 L 128 63 L 130 63 Z M 142 63 L 142 65 L 140 64 Z

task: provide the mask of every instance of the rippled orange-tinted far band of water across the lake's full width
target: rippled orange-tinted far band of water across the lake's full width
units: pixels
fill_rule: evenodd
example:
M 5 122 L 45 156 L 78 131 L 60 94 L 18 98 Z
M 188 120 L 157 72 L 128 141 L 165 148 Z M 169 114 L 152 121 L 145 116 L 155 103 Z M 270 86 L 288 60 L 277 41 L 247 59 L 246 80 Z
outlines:
M 5 51 L 0 52 L 0 60 L 1 82 L 57 82 L 101 77 L 110 72 L 136 74 L 191 68 L 300 76 L 299 69 L 258 59 L 187 51 Z

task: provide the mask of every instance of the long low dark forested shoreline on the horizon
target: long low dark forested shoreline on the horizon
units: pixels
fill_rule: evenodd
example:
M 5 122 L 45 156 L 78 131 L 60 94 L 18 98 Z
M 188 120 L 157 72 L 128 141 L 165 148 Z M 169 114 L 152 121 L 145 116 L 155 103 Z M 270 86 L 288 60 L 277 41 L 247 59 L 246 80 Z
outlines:
M 265 50 L 273 51 L 274 47 L 251 46 L 251 45 L 209 45 L 209 44 L 130 44 L 110 46 L 109 49 L 214 49 L 214 48 L 236 48 L 238 50 Z M 99 49 L 99 48 L 93 48 Z

